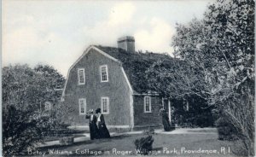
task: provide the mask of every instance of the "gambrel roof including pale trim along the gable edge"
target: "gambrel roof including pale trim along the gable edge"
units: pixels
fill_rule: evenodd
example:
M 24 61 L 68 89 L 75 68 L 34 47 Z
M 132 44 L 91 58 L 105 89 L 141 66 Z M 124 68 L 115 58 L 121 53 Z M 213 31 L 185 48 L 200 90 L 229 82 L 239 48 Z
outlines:
M 67 80 L 62 91 L 62 98 L 65 96 L 65 91 L 67 87 L 67 81 L 69 78 L 70 70 L 86 55 L 90 49 L 96 49 L 102 55 L 110 58 L 113 61 L 119 62 L 123 67 L 123 73 L 125 74 L 125 79 L 128 81 L 129 87 L 133 94 L 155 94 L 154 90 L 150 88 L 148 84 L 148 79 L 146 78 L 146 71 L 148 67 L 152 66 L 155 61 L 164 61 L 165 67 L 171 67 L 174 59 L 167 54 L 157 54 L 152 52 L 127 52 L 124 49 L 106 47 L 101 45 L 90 45 L 79 57 L 77 61 L 69 68 L 67 73 Z

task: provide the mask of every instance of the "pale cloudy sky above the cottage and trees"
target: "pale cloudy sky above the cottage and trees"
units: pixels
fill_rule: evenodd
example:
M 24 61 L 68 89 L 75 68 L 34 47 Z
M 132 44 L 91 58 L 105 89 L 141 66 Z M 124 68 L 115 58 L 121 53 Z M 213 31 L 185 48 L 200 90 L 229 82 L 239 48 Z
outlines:
M 117 47 L 133 36 L 136 50 L 172 55 L 177 23 L 201 19 L 211 0 L 3 0 L 3 67 L 49 64 L 64 77 L 90 44 Z

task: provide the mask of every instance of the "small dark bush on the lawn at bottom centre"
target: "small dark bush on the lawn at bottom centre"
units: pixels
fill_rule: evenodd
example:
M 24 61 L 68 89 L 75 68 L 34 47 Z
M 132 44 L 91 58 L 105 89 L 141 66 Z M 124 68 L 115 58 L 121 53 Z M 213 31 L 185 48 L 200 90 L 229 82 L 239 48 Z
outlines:
M 154 138 L 152 136 L 148 136 L 148 137 L 142 137 L 137 139 L 134 144 L 136 146 L 137 149 L 137 153 L 138 154 L 148 154 L 149 151 L 152 150 L 152 144 L 154 142 Z

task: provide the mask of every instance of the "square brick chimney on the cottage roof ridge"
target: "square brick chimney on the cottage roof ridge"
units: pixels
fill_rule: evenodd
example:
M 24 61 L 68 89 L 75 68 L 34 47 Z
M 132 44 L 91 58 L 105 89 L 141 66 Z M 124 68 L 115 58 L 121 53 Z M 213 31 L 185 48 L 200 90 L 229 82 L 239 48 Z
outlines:
M 135 40 L 131 36 L 125 36 L 118 39 L 118 48 L 125 49 L 127 52 L 135 53 Z

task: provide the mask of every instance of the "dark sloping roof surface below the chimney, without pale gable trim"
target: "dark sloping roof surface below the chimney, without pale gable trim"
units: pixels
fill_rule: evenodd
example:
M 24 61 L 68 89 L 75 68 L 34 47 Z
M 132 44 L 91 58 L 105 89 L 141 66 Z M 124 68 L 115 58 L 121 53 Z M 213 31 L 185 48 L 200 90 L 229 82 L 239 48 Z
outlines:
M 146 71 L 155 61 L 166 61 L 166 66 L 169 61 L 173 61 L 173 58 L 167 54 L 157 54 L 152 52 L 137 52 L 131 53 L 124 49 L 106 47 L 101 45 L 95 45 L 97 49 L 101 49 L 103 52 L 111 55 L 122 63 L 125 73 L 131 84 L 132 90 L 137 93 L 152 92 L 148 85 L 148 79 L 146 78 Z

